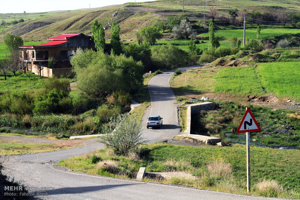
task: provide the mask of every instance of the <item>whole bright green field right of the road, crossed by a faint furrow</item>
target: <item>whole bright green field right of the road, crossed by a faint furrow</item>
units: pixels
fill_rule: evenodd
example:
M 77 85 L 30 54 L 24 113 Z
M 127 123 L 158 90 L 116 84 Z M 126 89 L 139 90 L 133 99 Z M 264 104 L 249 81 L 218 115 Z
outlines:
M 222 68 L 214 92 L 263 95 L 300 99 L 299 62 L 260 63 L 257 67 Z M 265 89 L 263 89 L 265 88 Z

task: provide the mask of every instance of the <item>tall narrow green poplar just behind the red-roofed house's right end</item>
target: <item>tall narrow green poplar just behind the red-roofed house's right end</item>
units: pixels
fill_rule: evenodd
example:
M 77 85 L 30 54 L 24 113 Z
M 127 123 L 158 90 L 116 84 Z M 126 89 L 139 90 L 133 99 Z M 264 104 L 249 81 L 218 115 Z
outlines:
M 91 33 L 95 43 L 95 48 L 97 51 L 103 51 L 105 48 L 105 31 L 102 27 L 102 24 L 98 23 L 96 19 L 91 25 Z

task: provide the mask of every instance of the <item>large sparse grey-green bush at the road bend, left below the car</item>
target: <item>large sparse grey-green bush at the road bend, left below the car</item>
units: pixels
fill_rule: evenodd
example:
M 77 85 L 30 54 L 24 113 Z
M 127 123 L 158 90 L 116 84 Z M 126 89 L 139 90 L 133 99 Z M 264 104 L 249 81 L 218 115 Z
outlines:
M 140 144 L 148 141 L 142 138 L 141 123 L 136 115 L 126 114 L 114 116 L 110 119 L 109 126 L 105 126 L 105 134 L 101 137 L 101 142 L 113 147 L 119 156 L 128 156 L 130 152 L 135 152 Z

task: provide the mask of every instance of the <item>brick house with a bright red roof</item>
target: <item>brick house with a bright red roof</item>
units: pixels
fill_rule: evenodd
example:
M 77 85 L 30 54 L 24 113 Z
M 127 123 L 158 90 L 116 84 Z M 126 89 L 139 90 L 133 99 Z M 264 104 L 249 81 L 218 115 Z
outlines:
M 69 58 L 72 52 L 79 47 L 95 49 L 92 37 L 83 33 L 62 34 L 49 38 L 49 40 L 50 42 L 44 44 L 19 47 L 22 58 L 27 63 L 27 70 L 45 77 L 52 77 L 53 75 L 72 77 L 72 66 Z M 53 62 L 49 62 L 49 58 Z

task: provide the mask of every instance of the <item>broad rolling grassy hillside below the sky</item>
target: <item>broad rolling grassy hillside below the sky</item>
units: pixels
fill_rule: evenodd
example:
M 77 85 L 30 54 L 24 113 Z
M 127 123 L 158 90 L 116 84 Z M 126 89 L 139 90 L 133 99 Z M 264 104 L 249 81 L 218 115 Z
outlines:
M 208 0 L 207 10 L 214 7 L 220 16 L 228 17 L 228 10 L 238 9 L 254 12 L 293 13 L 300 10 L 300 2 L 296 0 Z M 201 20 L 205 0 L 185 0 L 184 10 L 188 17 Z M 152 2 L 125 3 L 94 10 L 60 11 L 48 13 L 27 14 L 25 22 L 16 24 L 0 31 L 0 41 L 6 33 L 21 35 L 25 41 L 46 40 L 63 33 L 90 34 L 90 25 L 98 19 L 106 29 L 109 38 L 112 22 L 120 24 L 120 37 L 122 40 L 135 38 L 136 30 L 153 24 L 156 19 L 165 19 L 168 15 L 182 13 L 181 0 L 159 0 Z M 14 14 L 0 14 L 1 20 L 11 20 Z M 15 19 L 24 17 L 25 14 L 15 14 Z M 200 21 L 199 21 L 200 24 Z

